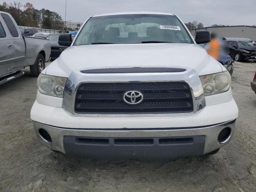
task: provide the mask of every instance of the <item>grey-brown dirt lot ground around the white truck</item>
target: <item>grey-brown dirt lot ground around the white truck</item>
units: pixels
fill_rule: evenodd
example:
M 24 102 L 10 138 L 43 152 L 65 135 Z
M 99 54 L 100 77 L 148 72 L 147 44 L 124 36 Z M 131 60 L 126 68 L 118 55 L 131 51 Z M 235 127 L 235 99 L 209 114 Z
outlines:
M 239 118 L 232 141 L 205 159 L 142 162 L 74 159 L 39 144 L 30 120 L 36 78 L 0 86 L 0 191 L 256 191 L 256 63 L 236 63 L 233 95 Z M 43 115 L 43 114 L 42 114 Z

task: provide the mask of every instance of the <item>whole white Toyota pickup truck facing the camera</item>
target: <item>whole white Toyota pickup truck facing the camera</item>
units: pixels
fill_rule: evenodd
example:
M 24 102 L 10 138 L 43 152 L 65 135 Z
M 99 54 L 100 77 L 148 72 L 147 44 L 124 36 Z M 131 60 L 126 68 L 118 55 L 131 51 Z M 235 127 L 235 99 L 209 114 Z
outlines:
M 231 77 L 174 14 L 88 18 L 38 77 L 31 119 L 51 150 L 104 159 L 214 154 L 234 133 Z

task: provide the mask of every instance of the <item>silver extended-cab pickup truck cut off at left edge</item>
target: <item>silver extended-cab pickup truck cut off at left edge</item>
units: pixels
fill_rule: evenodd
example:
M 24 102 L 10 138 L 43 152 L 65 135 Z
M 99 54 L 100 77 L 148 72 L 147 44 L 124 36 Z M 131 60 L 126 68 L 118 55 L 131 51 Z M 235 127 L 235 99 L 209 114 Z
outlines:
M 38 76 L 50 60 L 49 40 L 22 37 L 12 16 L 0 11 L 0 84 L 22 76 L 22 68 L 30 66 L 33 76 Z

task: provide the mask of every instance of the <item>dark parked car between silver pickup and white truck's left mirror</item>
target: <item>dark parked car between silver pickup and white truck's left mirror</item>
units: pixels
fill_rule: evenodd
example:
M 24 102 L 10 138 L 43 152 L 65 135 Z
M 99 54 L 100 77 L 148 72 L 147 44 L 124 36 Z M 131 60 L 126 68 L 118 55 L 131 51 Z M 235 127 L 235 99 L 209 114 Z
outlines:
M 51 43 L 51 60 L 55 60 L 60 56 L 63 50 L 65 50 L 66 46 L 60 46 L 58 44 L 60 34 L 50 34 L 47 39 L 50 40 Z

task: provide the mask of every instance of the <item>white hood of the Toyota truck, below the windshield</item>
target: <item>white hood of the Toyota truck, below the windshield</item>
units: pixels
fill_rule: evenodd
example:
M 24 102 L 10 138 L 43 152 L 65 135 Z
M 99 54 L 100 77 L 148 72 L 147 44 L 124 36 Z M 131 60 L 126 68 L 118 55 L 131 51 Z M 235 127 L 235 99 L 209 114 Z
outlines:
M 74 70 L 160 66 L 192 68 L 198 75 L 223 69 L 197 44 L 100 44 L 67 48 L 43 73 L 68 77 Z

